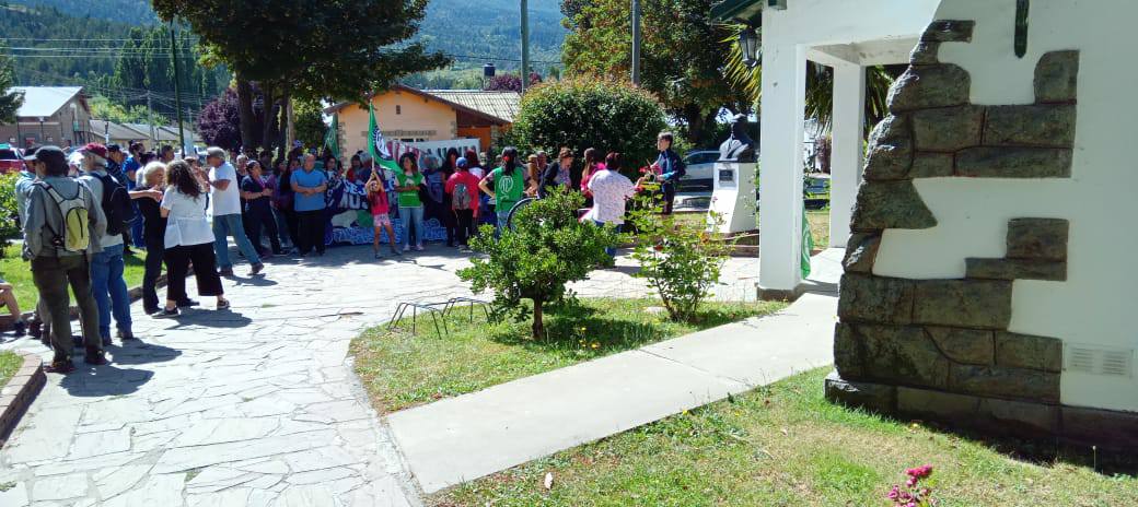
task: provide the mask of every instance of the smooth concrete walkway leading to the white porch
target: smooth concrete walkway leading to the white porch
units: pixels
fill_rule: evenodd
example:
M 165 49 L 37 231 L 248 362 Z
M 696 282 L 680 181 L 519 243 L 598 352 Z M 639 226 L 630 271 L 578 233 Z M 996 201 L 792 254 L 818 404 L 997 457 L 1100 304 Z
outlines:
M 430 493 L 832 363 L 842 251 L 815 257 L 811 292 L 777 315 L 391 414 Z

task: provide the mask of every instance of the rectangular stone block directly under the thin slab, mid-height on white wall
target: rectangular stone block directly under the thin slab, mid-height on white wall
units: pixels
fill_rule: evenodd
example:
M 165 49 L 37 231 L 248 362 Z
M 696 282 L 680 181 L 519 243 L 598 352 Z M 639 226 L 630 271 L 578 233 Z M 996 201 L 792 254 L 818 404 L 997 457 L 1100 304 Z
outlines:
M 1012 282 L 921 280 L 913 283 L 913 323 L 1006 330 L 1012 319 Z

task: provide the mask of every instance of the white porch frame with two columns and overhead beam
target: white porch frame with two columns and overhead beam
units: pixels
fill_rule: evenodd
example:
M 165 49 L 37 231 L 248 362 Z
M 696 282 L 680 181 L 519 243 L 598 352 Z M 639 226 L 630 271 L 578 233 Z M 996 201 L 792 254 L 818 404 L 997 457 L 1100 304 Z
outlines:
M 861 174 L 864 67 L 908 61 L 940 0 L 794 0 L 762 13 L 759 286 L 801 283 L 806 61 L 835 69 L 831 244 L 849 236 Z

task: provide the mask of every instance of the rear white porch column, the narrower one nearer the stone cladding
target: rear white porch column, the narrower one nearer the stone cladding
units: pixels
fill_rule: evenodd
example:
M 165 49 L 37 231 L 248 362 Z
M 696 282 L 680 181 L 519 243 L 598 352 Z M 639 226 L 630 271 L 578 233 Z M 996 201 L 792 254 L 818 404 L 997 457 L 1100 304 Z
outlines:
M 850 216 L 861 184 L 865 123 L 865 67 L 834 66 L 834 110 L 830 157 L 830 246 L 846 248 Z

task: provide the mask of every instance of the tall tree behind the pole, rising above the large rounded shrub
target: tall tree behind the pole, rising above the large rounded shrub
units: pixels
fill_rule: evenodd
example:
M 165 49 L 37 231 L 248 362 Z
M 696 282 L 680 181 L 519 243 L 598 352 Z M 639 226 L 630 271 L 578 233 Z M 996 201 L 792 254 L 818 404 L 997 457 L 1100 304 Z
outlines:
M 712 0 L 643 0 L 641 86 L 659 98 L 681 120 L 684 138 L 696 147 L 715 144 L 721 108 L 735 113 L 752 103 L 723 77 L 724 44 L 729 27 L 710 18 Z M 632 72 L 632 14 L 627 0 L 564 0 L 571 32 L 562 58 L 570 75 L 628 76 Z

